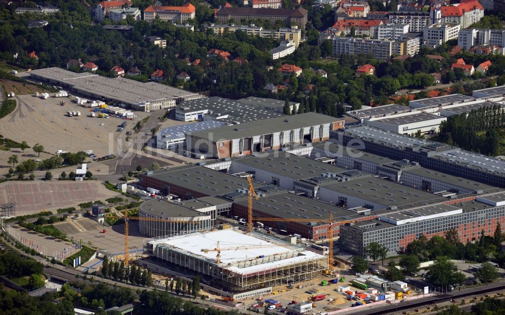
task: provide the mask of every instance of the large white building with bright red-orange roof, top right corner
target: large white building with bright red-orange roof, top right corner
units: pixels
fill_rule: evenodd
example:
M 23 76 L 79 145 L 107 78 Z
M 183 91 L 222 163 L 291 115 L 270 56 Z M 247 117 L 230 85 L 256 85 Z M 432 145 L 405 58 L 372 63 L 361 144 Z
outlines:
M 484 17 L 484 8 L 476 0 L 443 6 L 440 10 L 442 23 L 460 25 L 462 29 L 479 22 Z

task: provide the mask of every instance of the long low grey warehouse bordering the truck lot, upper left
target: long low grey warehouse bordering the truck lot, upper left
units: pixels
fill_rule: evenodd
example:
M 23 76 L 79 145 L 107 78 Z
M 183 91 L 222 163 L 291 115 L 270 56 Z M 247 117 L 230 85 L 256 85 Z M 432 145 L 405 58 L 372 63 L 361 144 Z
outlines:
M 74 73 L 60 68 L 32 70 L 30 78 L 139 111 L 174 108 L 181 101 L 205 97 L 156 82 L 141 83 L 121 77 L 107 78 L 92 73 Z

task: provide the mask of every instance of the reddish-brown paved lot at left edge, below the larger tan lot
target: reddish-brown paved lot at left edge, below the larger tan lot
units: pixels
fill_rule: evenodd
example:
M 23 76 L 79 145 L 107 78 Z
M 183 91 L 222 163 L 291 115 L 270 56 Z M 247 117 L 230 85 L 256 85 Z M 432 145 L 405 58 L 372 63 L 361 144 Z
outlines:
M 90 200 L 105 200 L 118 193 L 98 181 L 8 181 L 0 183 L 0 204 L 15 203 L 16 216 L 75 207 Z

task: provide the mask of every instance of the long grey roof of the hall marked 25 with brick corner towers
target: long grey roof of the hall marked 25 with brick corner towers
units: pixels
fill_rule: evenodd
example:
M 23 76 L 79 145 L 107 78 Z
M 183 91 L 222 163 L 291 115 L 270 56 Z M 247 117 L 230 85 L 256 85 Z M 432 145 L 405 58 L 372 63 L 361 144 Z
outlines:
M 300 129 L 304 127 L 312 127 L 325 123 L 332 123 L 339 120 L 340 119 L 335 117 L 309 112 L 309 113 L 297 114 L 294 116 L 263 119 L 241 123 L 238 125 L 230 125 L 226 127 L 216 128 L 212 130 L 212 134 L 209 132 L 200 131 L 200 132 L 188 133 L 188 135 L 203 139 L 209 139 L 210 137 L 212 137 L 211 140 L 215 142 L 215 141 L 225 141 L 225 140 L 267 135 L 282 131 L 290 131 L 293 129 Z

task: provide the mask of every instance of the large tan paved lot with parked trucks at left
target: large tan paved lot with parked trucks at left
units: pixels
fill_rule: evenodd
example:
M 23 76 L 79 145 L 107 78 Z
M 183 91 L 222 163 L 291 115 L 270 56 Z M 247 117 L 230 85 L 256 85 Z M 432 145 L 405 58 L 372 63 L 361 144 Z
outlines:
M 0 134 L 18 142 L 25 140 L 30 146 L 39 143 L 50 153 L 58 150 L 93 150 L 98 157 L 117 154 L 118 147 L 124 145 L 117 142 L 117 139 L 132 131 L 139 119 L 149 115 L 146 112 L 136 112 L 137 117 L 128 120 L 126 128 L 117 132 L 117 126 L 125 120 L 117 117 L 90 117 L 89 108 L 78 106 L 70 98 L 42 99 L 35 95 L 19 95 L 15 98 L 18 106 L 0 120 Z M 59 105 L 63 100 L 66 104 Z M 81 116 L 68 117 L 69 110 L 80 111 Z

